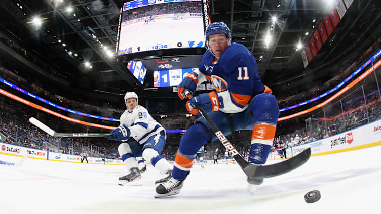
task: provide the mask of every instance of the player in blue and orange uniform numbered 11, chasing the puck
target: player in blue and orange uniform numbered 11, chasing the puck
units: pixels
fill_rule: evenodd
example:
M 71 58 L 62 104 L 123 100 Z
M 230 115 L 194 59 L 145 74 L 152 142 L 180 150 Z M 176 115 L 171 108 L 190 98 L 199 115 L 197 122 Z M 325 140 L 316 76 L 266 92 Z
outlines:
M 223 22 L 211 23 L 205 31 L 206 47 L 198 69 L 187 73 L 178 85 L 178 95 L 184 99 L 184 90 L 196 91 L 198 84 L 210 81 L 215 88 L 191 98 L 186 108 L 197 114 L 193 106 L 200 105 L 225 136 L 238 130 L 251 130 L 248 160 L 264 164 L 273 145 L 279 116 L 278 103 L 258 75 L 257 64 L 251 52 L 243 45 L 232 43 L 230 29 Z M 199 148 L 217 140 L 203 117 L 186 131 L 177 150 L 172 178 L 159 184 L 156 197 L 178 194 L 189 174 Z M 247 180 L 252 192 L 263 182 Z

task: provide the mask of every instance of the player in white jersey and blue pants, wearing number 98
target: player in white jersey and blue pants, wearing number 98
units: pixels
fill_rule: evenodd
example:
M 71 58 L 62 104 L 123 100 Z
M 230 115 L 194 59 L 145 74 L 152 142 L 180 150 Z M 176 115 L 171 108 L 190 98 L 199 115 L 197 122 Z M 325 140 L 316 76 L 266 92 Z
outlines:
M 121 123 L 108 137 L 109 140 L 122 142 L 118 147 L 119 155 L 128 174 L 119 178 L 119 185 L 141 185 L 141 172 L 136 157 L 142 156 L 167 177 L 171 176 L 172 166 L 160 155 L 167 138 L 164 128 L 143 106 L 138 105 L 135 92 L 124 96 L 127 110 L 121 116 Z M 135 141 L 129 140 L 132 137 Z

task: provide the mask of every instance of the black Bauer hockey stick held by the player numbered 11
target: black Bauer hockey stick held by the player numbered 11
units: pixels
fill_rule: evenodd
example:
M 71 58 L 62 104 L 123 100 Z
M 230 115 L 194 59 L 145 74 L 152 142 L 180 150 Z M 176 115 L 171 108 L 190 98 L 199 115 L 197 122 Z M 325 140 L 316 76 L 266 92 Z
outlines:
M 192 94 L 188 90 L 184 90 L 185 95 L 188 98 L 192 98 Z M 308 148 L 296 155 L 293 158 L 290 158 L 286 161 L 272 164 L 272 165 L 254 165 L 247 162 L 242 156 L 238 153 L 238 151 L 234 148 L 234 146 L 230 143 L 229 140 L 223 135 L 223 133 L 218 129 L 218 126 L 213 122 L 210 116 L 206 113 L 206 111 L 201 106 L 194 106 L 198 109 L 201 115 L 205 118 L 206 122 L 209 124 L 211 130 L 218 137 L 218 140 L 222 143 L 222 145 L 227 149 L 227 151 L 233 156 L 233 158 L 237 161 L 238 165 L 242 168 L 243 172 L 250 179 L 258 179 L 258 178 L 270 178 L 278 175 L 282 175 L 284 173 L 290 172 L 291 170 L 301 166 L 311 156 L 311 148 Z

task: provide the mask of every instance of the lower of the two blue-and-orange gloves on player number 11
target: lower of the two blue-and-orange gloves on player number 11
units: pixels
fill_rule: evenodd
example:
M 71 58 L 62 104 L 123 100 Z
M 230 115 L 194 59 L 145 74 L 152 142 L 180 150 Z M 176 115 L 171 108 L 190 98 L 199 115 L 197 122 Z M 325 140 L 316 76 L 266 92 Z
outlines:
M 198 110 L 194 106 L 197 105 L 202 107 L 206 112 L 218 111 L 220 108 L 223 108 L 223 100 L 222 97 L 218 97 L 216 92 L 204 93 L 191 98 L 189 103 L 186 103 L 186 109 L 196 115 Z

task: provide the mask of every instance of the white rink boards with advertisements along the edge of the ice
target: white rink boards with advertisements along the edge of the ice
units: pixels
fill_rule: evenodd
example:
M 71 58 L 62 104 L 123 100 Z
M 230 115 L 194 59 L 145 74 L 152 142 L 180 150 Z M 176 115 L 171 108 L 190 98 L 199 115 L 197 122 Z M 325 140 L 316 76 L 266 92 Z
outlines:
M 312 156 L 333 154 L 338 152 L 346 152 L 357 149 L 368 148 L 381 145 L 381 120 L 368 123 L 357 127 L 356 129 L 343 132 L 329 138 L 321 139 L 304 145 L 299 145 L 286 149 L 287 157 L 292 157 L 299 154 L 304 149 L 311 147 Z M 50 160 L 59 162 L 81 163 L 81 156 L 61 154 L 56 152 L 48 152 L 39 149 L 16 146 L 7 143 L 0 143 L 0 160 L 2 156 L 22 157 L 27 155 L 28 158 Z M 277 152 L 271 152 L 268 160 L 280 159 Z M 103 159 L 95 157 L 87 157 L 90 164 L 105 164 L 105 165 L 122 165 L 122 160 Z M 232 163 L 234 159 L 219 159 L 218 163 Z M 214 160 L 204 160 L 203 164 L 213 164 Z M 173 161 L 170 161 L 173 164 Z M 200 164 L 200 161 L 197 161 Z M 147 164 L 148 165 L 148 164 Z

